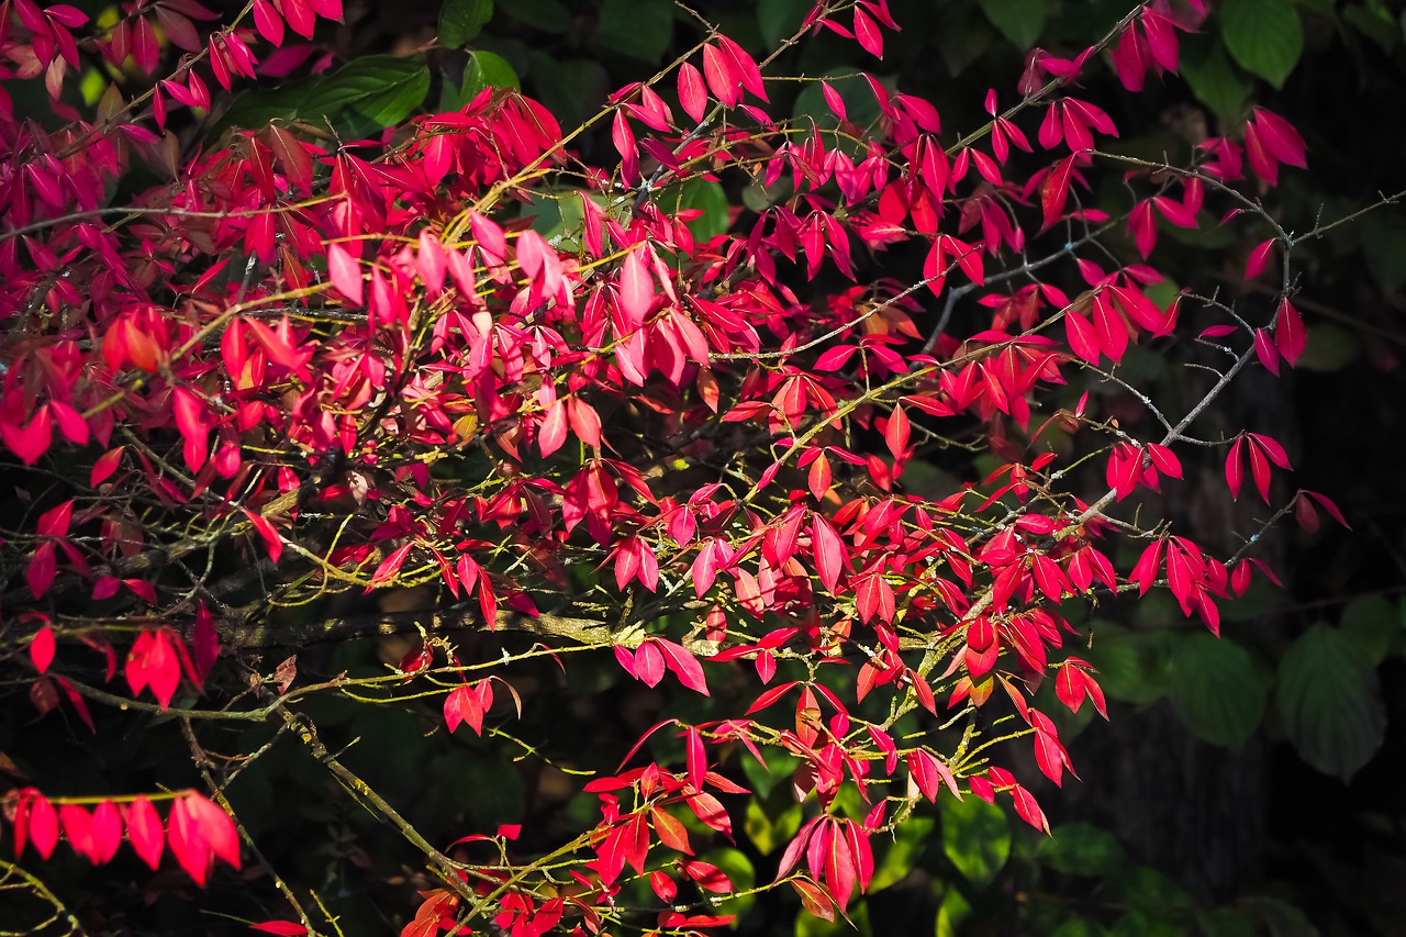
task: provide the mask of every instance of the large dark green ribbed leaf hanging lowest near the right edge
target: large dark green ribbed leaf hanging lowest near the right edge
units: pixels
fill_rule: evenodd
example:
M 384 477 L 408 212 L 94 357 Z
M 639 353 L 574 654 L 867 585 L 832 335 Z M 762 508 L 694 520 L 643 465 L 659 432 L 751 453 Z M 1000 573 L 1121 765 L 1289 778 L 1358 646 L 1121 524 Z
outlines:
M 1343 781 L 1371 761 L 1386 737 L 1376 668 L 1329 625 L 1315 625 L 1285 651 L 1275 702 L 1299 756 Z

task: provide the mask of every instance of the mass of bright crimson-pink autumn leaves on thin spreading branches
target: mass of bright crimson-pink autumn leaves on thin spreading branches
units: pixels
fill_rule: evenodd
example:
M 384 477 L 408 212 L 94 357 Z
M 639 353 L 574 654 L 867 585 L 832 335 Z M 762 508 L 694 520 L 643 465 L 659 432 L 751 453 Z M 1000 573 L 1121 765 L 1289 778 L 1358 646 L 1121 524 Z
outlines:
M 1254 535 L 1341 521 L 1260 428 L 1201 422 L 1305 349 L 1315 234 L 1260 203 L 1306 166 L 1299 134 L 1257 107 L 1147 160 L 1087 100 L 1090 76 L 1175 72 L 1205 13 L 1154 0 L 1077 55 L 1033 49 L 965 135 L 872 77 L 873 120 L 831 83 L 823 120 L 773 114 L 776 56 L 690 21 L 686 55 L 581 128 L 489 84 L 356 138 L 205 122 L 339 0 L 103 23 L 6 0 L 0 660 L 28 696 L 8 705 L 169 730 L 188 764 L 122 791 L 18 771 L 4 848 L 39 878 L 60 848 L 195 885 L 263 865 L 247 888 L 281 910 L 257 930 L 332 933 L 225 795 L 291 747 L 419 855 L 389 912 L 406 936 L 718 933 L 735 885 L 700 855 L 737 834 L 744 760 L 787 765 L 807 803 L 755 888 L 821 917 L 931 802 L 1047 829 L 1031 788 L 1077 767 L 1052 706 L 1107 716 L 1080 609 L 1168 589 L 1219 633 L 1274 577 Z M 904 24 L 827 0 L 794 25 L 882 58 Z M 145 83 L 76 101 L 90 60 Z M 44 120 L 6 89 L 41 79 Z M 1109 180 L 1116 212 L 1091 197 Z M 762 198 L 700 207 L 693 184 Z M 1258 245 L 1261 298 L 1159 272 L 1170 228 L 1218 224 Z M 1184 400 L 1125 380 L 1135 346 L 1188 364 Z M 1132 415 L 1104 407 L 1123 391 Z M 1223 453 L 1227 505 L 1271 506 L 1233 554 L 1161 515 L 1195 449 Z M 413 643 L 378 671 L 290 658 L 367 636 Z M 322 698 L 429 705 L 495 757 L 551 758 L 550 726 L 509 744 L 541 657 L 679 701 L 623 761 L 574 764 L 578 829 L 418 829 L 319 734 Z

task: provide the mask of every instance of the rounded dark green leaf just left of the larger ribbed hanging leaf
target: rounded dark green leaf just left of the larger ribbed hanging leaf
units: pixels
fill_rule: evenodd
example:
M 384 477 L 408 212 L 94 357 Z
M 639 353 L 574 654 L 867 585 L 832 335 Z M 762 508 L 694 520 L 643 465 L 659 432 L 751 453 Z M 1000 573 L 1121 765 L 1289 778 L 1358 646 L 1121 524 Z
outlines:
M 1230 639 L 1206 633 L 1177 642 L 1168 695 L 1194 736 L 1226 748 L 1250 740 L 1268 698 L 1250 653 Z

